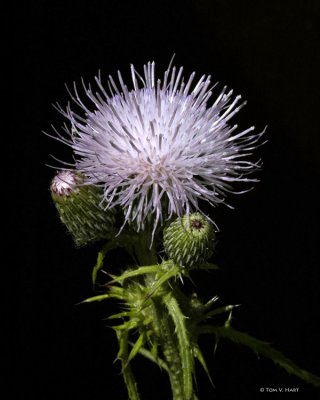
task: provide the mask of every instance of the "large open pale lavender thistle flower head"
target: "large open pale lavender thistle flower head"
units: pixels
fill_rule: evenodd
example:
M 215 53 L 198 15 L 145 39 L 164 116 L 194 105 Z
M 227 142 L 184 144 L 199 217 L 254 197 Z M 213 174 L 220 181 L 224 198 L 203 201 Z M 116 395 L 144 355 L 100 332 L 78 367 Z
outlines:
M 118 86 L 109 76 L 108 93 L 99 74 L 97 91 L 82 82 L 92 108 L 75 85 L 70 95 L 80 114 L 58 106 L 72 128 L 56 139 L 73 149 L 74 168 L 88 184 L 102 185 L 106 207 L 120 206 L 124 224 L 132 221 L 137 230 L 149 215 L 155 230 L 165 218 L 201 212 L 199 200 L 225 203 L 234 182 L 256 181 L 248 175 L 259 162 L 245 157 L 263 132 L 236 133 L 230 125 L 245 104 L 241 96 L 224 87 L 209 105 L 210 76 L 193 85 L 195 73 L 184 81 L 182 72 L 170 64 L 161 81 L 154 63 L 144 66 L 143 77 L 131 66 L 133 89 L 118 72 Z

